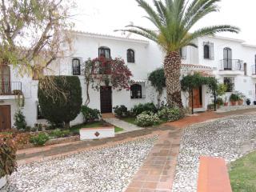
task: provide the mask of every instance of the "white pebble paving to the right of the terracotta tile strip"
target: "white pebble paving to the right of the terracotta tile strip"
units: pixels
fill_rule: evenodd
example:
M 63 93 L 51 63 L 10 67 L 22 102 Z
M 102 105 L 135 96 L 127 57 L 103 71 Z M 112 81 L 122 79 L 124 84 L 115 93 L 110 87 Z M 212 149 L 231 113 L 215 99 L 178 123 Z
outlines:
M 188 126 L 182 135 L 173 192 L 195 192 L 201 155 L 234 161 L 256 149 L 256 115 L 240 115 Z

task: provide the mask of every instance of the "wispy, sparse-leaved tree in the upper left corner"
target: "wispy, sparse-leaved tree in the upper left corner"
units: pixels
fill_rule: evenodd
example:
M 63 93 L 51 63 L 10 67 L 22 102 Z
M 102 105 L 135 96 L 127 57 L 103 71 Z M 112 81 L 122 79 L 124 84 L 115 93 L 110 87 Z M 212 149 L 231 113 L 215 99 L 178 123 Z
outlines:
M 2 0 L 0 65 L 14 66 L 21 76 L 43 78 L 42 71 L 70 50 L 73 6 L 72 0 Z

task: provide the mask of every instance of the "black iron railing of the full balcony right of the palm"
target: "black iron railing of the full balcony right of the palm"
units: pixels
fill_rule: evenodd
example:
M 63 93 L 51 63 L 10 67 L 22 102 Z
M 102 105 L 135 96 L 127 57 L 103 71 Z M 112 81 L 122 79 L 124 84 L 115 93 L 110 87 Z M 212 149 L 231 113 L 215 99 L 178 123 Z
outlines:
M 222 59 L 220 70 L 239 70 L 243 71 L 243 62 L 240 59 Z

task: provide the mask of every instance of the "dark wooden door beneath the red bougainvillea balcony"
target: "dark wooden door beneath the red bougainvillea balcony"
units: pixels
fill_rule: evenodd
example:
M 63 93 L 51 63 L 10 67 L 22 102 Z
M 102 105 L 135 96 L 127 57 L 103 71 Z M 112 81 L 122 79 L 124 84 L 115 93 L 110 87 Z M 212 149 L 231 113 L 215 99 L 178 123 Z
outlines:
M 101 112 L 102 114 L 112 113 L 112 88 L 101 86 Z

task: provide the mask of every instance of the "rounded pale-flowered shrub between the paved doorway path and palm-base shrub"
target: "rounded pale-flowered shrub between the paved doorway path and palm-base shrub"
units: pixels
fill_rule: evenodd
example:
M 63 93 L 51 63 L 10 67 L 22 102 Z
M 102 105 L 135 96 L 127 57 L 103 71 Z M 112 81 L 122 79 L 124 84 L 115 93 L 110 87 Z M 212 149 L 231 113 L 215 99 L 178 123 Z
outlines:
M 142 112 L 142 114 L 138 114 L 135 123 L 138 126 L 154 126 L 160 122 L 157 114 L 153 114 L 152 112 Z

